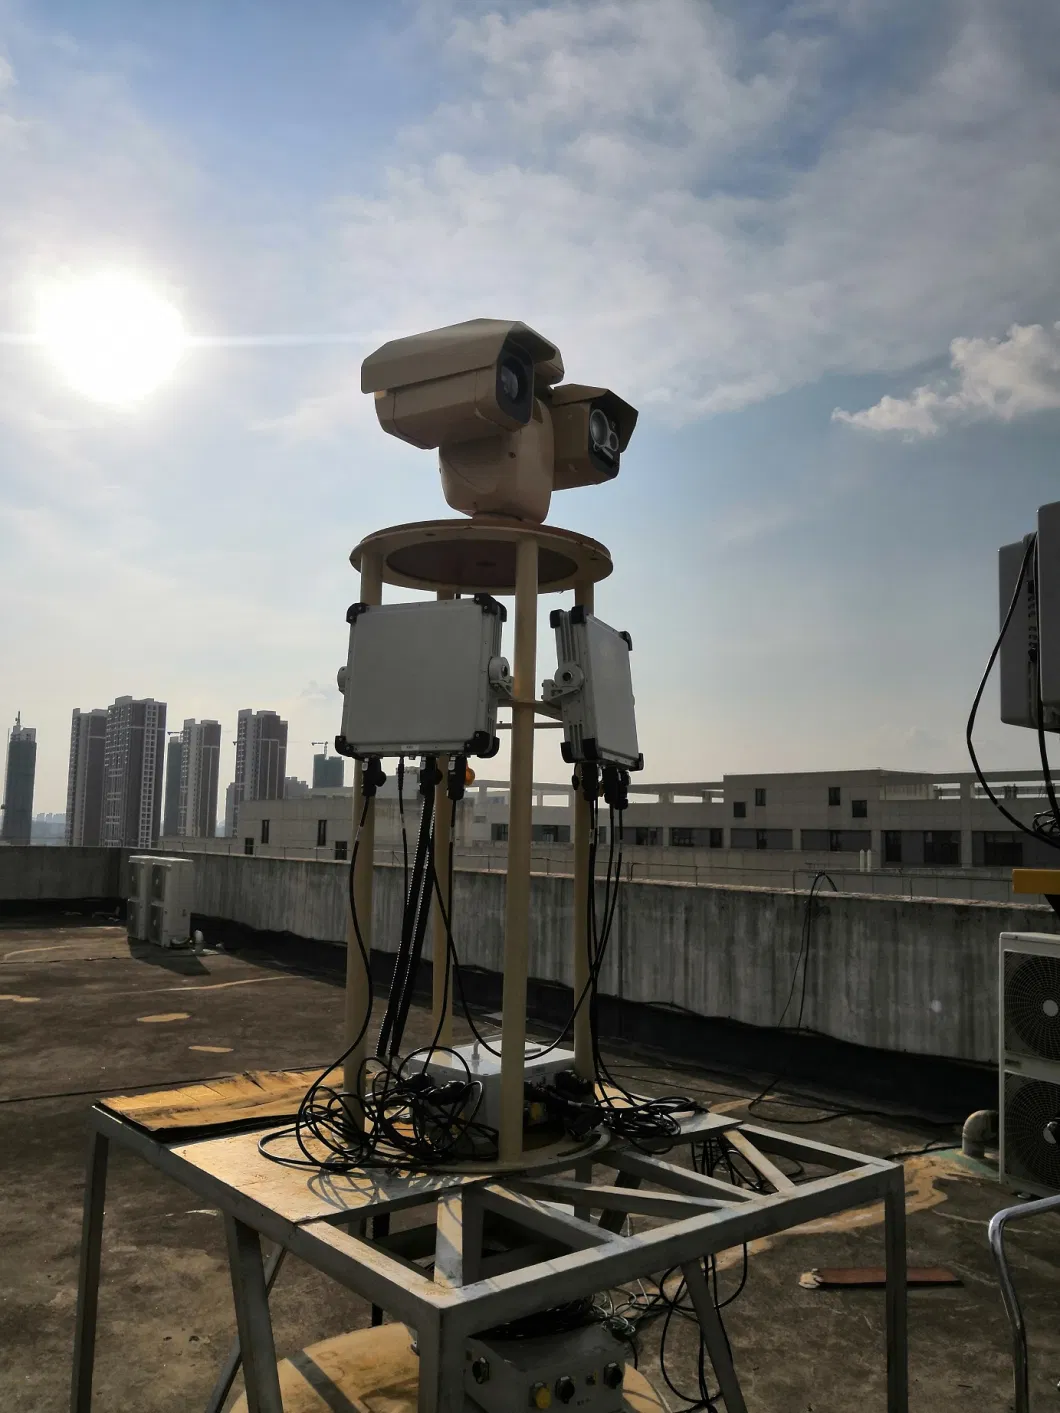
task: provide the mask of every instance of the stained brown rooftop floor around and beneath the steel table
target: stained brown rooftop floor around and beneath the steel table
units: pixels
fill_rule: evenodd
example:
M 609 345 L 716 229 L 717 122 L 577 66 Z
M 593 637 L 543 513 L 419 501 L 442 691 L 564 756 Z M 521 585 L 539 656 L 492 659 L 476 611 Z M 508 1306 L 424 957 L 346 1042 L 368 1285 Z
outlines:
M 195 958 L 130 947 L 124 930 L 65 918 L 0 926 L 0 1409 L 68 1406 L 85 1156 L 95 1096 L 247 1068 L 324 1064 L 338 1048 L 334 979 L 278 969 L 253 948 Z M 427 1017 L 414 1012 L 413 1040 Z M 750 1084 L 676 1072 L 629 1054 L 616 1068 L 644 1092 L 690 1092 L 741 1112 Z M 801 1115 L 775 1108 L 782 1118 Z M 762 1122 L 762 1119 L 760 1119 Z M 799 1130 L 868 1153 L 917 1149 L 938 1132 L 847 1116 Z M 944 1265 L 960 1287 L 910 1291 L 914 1413 L 1011 1407 L 1008 1332 L 987 1248 L 1006 1205 L 989 1174 L 954 1153 L 906 1163 L 909 1259 Z M 750 1249 L 725 1321 L 752 1410 L 883 1409 L 883 1294 L 806 1290 L 814 1266 L 878 1265 L 879 1214 L 811 1224 Z M 1060 1224 L 1012 1235 L 1030 1324 L 1032 1402 L 1053 1407 L 1060 1376 Z M 739 1252 L 722 1265 L 724 1290 Z M 363 1301 L 288 1260 L 273 1293 L 277 1348 L 295 1351 L 367 1323 Z M 139 1159 L 112 1156 L 96 1359 L 99 1413 L 177 1413 L 205 1405 L 235 1321 L 218 1214 Z M 660 1323 L 642 1335 L 657 1379 Z M 697 1338 L 674 1321 L 669 1366 L 695 1388 Z M 671 1400 L 674 1407 L 680 1406 Z

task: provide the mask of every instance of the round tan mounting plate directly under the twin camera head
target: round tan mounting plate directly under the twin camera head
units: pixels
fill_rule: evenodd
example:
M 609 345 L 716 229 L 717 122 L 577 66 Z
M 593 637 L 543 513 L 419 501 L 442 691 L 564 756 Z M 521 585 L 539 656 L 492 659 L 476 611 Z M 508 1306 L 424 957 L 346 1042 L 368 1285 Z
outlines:
M 383 584 L 404 589 L 514 593 L 516 544 L 526 538 L 537 541 L 538 593 L 598 584 L 612 571 L 611 552 L 598 540 L 495 516 L 376 530 L 356 545 L 349 561 L 359 569 L 363 554 L 377 554 Z

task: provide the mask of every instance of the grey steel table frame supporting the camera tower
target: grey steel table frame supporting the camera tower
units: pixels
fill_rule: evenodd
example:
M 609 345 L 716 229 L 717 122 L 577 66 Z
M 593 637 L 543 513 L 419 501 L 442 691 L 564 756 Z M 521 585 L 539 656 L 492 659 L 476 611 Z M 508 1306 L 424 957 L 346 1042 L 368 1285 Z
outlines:
M 711 1133 L 724 1135 L 773 1191 L 759 1194 L 734 1187 L 616 1142 L 588 1157 L 567 1156 L 519 1173 L 468 1177 L 370 1174 L 367 1183 L 382 1190 L 379 1195 L 365 1197 L 362 1191 L 349 1201 L 329 1184 L 321 1184 L 315 1176 L 295 1169 L 269 1166 L 266 1186 L 273 1193 L 271 1198 L 254 1193 L 253 1176 L 226 1181 L 208 1170 L 208 1159 L 225 1152 L 242 1154 L 246 1164 L 260 1132 L 274 1126 L 263 1125 L 252 1135 L 175 1146 L 151 1137 L 99 1106 L 90 1111 L 72 1413 L 90 1413 L 92 1407 L 103 1207 L 112 1142 L 182 1183 L 220 1208 L 223 1215 L 239 1341 L 218 1379 L 211 1410 L 223 1405 L 242 1358 L 250 1413 L 283 1413 L 269 1289 L 283 1255 L 290 1253 L 416 1330 L 418 1413 L 462 1413 L 464 1347 L 478 1330 L 680 1266 L 725 1396 L 726 1413 L 745 1413 L 746 1405 L 701 1259 L 814 1218 L 882 1201 L 886 1407 L 888 1413 L 907 1413 L 905 1176 L 900 1164 L 738 1123 L 721 1115 L 702 1115 L 684 1126 L 681 1142 L 698 1142 Z M 831 1171 L 796 1186 L 772 1161 L 777 1156 Z M 618 1176 L 613 1181 L 596 1184 L 592 1181 L 594 1166 L 616 1170 Z M 572 1178 L 560 1176 L 564 1173 L 572 1173 Z M 642 1188 L 644 1181 L 656 1190 Z M 283 1201 L 276 1198 L 277 1184 L 283 1190 Z M 260 1177 L 257 1186 L 263 1186 Z M 372 1217 L 427 1202 L 437 1202 L 434 1221 L 400 1235 L 406 1242 L 414 1232 L 423 1239 L 430 1236 L 432 1279 L 400 1251 L 384 1251 L 363 1235 Z M 554 1204 L 572 1204 L 574 1215 Z M 588 1219 L 594 1210 L 602 1214 L 598 1222 Z M 298 1217 L 298 1212 L 304 1215 Z M 661 1217 L 666 1225 L 622 1235 L 628 1212 Z M 514 1252 L 485 1255 L 481 1242 L 486 1215 L 523 1232 L 526 1245 Z M 349 1229 L 342 1229 L 339 1224 Z M 263 1236 L 274 1243 L 267 1263 L 261 1253 Z M 523 1263 L 526 1260 L 530 1263 Z

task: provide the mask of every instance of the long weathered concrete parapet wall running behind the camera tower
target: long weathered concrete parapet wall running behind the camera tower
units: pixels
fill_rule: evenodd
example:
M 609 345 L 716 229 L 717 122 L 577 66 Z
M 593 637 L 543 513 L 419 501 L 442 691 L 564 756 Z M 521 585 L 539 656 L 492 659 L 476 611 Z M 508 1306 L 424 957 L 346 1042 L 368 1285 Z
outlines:
M 346 866 L 202 853 L 201 911 L 339 941 Z M 376 868 L 373 945 L 396 948 L 401 870 Z M 570 985 L 572 885 L 536 876 L 531 974 Z M 806 894 L 625 883 L 602 989 L 755 1026 L 777 1023 L 799 957 Z M 505 879 L 457 873 L 462 961 L 503 971 Z M 991 1061 L 1001 931 L 1057 931 L 1047 907 L 828 894 L 817 904 L 803 1023 L 858 1044 Z M 799 989 L 786 1019 L 794 1024 Z

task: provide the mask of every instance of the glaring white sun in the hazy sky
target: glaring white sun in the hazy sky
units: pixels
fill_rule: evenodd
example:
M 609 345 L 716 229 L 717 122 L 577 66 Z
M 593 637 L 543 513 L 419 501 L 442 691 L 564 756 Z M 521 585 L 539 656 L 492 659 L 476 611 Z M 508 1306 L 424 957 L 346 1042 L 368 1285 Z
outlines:
M 177 309 L 120 273 L 52 285 L 41 298 L 37 335 L 71 387 L 114 406 L 164 383 L 188 342 Z

